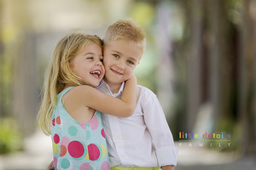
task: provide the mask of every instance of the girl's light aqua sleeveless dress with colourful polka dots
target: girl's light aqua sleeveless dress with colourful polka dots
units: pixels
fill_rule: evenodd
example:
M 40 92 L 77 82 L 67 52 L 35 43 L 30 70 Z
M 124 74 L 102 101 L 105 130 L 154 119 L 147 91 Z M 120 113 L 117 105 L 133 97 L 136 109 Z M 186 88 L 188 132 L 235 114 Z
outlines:
M 52 114 L 54 167 L 57 170 L 109 170 L 102 115 L 95 111 L 89 122 L 75 121 L 61 102 L 71 88 L 57 95 L 57 105 Z

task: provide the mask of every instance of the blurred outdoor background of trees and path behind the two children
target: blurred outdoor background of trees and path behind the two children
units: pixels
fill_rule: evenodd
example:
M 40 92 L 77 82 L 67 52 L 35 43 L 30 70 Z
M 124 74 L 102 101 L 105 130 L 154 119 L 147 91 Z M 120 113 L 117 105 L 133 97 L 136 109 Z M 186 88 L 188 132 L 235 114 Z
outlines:
M 160 99 L 176 169 L 256 169 L 256 0 L 0 0 L 0 169 L 51 160 L 36 116 L 56 42 L 74 29 L 102 37 L 122 18 L 147 33 L 135 74 Z M 180 146 L 179 132 L 231 144 Z

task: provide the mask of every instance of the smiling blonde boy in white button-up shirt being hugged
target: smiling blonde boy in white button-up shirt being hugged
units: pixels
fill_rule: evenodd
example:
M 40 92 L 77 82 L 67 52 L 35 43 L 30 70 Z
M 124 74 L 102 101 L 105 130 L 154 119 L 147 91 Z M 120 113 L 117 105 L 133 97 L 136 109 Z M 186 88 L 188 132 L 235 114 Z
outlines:
M 132 20 L 118 20 L 103 38 L 106 74 L 97 88 L 119 98 L 145 48 L 145 35 Z M 137 106 L 132 116 L 102 114 L 112 170 L 172 170 L 177 148 L 155 94 L 137 86 Z

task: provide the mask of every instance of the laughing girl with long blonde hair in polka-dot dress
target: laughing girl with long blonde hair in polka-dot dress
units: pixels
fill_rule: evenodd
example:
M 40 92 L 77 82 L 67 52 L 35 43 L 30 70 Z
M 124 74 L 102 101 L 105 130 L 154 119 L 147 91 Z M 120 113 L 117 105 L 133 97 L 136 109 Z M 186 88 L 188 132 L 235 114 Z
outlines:
M 57 43 L 38 114 L 43 132 L 52 137 L 55 169 L 110 169 L 99 111 L 131 116 L 137 79 L 126 82 L 120 99 L 102 94 L 95 89 L 105 73 L 102 59 L 99 37 L 73 33 Z

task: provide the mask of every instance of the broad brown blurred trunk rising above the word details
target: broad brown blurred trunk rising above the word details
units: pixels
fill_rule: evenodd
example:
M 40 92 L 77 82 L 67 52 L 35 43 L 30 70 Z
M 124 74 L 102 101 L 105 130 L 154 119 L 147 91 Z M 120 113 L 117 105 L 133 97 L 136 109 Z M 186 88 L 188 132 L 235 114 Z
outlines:
M 224 121 L 231 120 L 231 65 L 230 32 L 227 4 L 222 0 L 207 3 L 209 11 L 209 101 L 212 105 L 214 130 L 223 129 Z

